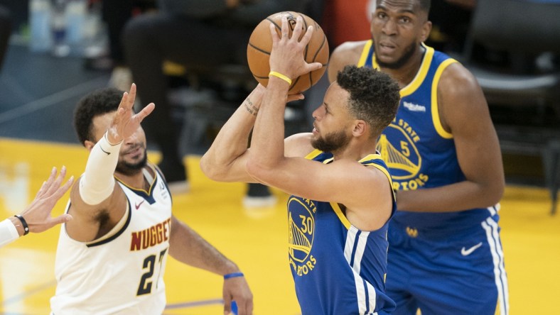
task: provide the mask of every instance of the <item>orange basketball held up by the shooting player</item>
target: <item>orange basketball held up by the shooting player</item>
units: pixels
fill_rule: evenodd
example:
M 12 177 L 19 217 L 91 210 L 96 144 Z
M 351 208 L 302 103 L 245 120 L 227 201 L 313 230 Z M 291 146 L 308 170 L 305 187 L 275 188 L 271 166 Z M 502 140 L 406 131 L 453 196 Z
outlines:
M 276 32 L 281 35 L 281 18 L 286 16 L 288 18 L 289 24 L 289 36 L 291 37 L 292 31 L 296 26 L 297 16 L 303 18 L 303 32 L 301 37 L 306 33 L 308 26 L 313 26 L 313 36 L 303 51 L 303 57 L 306 62 L 321 62 L 323 67 L 321 69 L 306 73 L 297 78 L 291 78 L 292 83 L 289 89 L 289 94 L 298 94 L 306 91 L 313 84 L 316 84 L 319 79 L 323 76 L 326 70 L 326 65 L 328 64 L 328 42 L 323 33 L 323 29 L 319 26 L 316 21 L 312 18 L 306 16 L 303 13 L 286 11 L 274 13 L 268 18 L 265 18 L 256 28 L 254 28 L 251 37 L 249 38 L 249 44 L 247 45 L 247 62 L 249 62 L 249 69 L 253 74 L 253 77 L 257 81 L 266 87 L 269 82 L 269 57 L 272 50 L 272 38 L 270 35 L 269 25 L 274 23 L 276 26 Z

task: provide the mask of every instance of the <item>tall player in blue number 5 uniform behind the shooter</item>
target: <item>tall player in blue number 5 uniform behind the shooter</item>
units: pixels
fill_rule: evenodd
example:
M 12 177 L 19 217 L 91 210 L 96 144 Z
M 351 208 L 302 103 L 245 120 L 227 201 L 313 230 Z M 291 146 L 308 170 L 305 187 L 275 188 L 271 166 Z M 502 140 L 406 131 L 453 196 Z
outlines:
M 397 117 L 377 143 L 398 191 L 388 236 L 394 314 L 507 314 L 500 146 L 473 74 L 423 44 L 429 6 L 377 0 L 372 40 L 336 48 L 329 79 L 357 65 L 386 72 L 401 87 Z

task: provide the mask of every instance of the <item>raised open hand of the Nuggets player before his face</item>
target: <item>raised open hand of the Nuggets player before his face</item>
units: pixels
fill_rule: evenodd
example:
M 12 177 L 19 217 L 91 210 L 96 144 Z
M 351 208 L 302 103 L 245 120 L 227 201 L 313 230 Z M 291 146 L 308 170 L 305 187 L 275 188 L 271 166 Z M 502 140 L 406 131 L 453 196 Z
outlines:
M 134 100 L 136 99 L 136 84 L 132 84 L 130 92 L 124 92 L 117 114 L 113 118 L 112 126 L 107 131 L 109 143 L 119 143 L 131 136 L 140 123 L 154 110 L 154 103 L 148 104 L 138 114 L 134 114 Z

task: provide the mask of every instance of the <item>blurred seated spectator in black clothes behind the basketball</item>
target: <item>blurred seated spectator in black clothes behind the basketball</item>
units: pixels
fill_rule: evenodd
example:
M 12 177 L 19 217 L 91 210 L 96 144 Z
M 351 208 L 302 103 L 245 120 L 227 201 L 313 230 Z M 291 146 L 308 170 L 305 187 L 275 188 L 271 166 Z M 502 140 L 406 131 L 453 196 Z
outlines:
M 189 67 L 212 72 L 222 65 L 247 66 L 247 43 L 254 27 L 279 11 L 305 13 L 308 0 L 161 0 L 159 4 L 157 13 L 137 16 L 126 24 L 124 55 L 140 99 L 156 104 L 143 126 L 161 151 L 158 166 L 170 186 L 181 189 L 188 175 L 178 150 L 163 62 L 183 65 L 187 71 Z M 274 197 L 267 187 L 251 184 L 244 201 L 259 206 L 274 203 Z

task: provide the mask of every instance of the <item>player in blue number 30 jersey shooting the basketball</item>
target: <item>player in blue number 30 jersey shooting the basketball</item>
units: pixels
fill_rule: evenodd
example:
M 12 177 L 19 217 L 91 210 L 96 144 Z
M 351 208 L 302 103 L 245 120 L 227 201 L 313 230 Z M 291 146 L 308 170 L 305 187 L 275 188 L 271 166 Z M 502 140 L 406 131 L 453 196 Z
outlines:
M 399 87 L 377 70 L 347 67 L 313 112 L 313 133 L 284 139 L 291 79 L 307 64 L 298 18 L 291 38 L 272 26 L 269 82 L 258 85 L 222 127 L 201 166 L 220 181 L 261 182 L 291 194 L 289 263 L 303 314 L 387 314 L 387 226 L 396 204 L 377 138 L 399 106 Z M 258 112 L 258 114 L 257 114 Z M 249 133 L 254 128 L 250 149 Z

